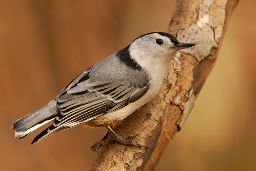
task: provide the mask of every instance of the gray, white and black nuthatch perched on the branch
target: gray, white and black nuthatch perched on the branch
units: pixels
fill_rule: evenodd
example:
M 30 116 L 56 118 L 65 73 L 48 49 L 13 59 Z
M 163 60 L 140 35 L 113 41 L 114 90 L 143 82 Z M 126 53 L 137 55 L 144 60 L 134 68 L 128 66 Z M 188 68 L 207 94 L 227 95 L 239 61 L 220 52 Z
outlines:
M 108 142 L 146 147 L 126 140 L 137 134 L 120 137 L 112 128 L 157 94 L 176 53 L 194 45 L 180 43 L 164 32 L 139 36 L 78 75 L 47 105 L 17 120 L 12 125 L 15 137 L 24 138 L 53 121 L 31 145 L 58 131 L 84 124 L 88 128 L 106 127 L 114 135 L 113 139 L 106 140 L 105 136 L 92 146 L 94 151 Z

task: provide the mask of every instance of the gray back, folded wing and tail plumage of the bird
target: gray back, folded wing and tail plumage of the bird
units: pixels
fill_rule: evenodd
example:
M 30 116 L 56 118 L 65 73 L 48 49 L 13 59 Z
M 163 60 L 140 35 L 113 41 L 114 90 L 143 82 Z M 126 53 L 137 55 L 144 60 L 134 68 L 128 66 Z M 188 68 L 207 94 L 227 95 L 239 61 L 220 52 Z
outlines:
M 35 144 L 59 130 L 123 108 L 128 105 L 130 98 L 132 103 L 143 96 L 149 88 L 148 74 L 127 67 L 116 54 L 104 58 L 76 77 L 55 100 L 16 121 L 12 126 L 13 130 L 19 132 L 16 137 L 23 138 L 37 127 L 32 131 L 27 130 L 56 118 L 49 128 L 33 140 L 32 144 Z M 113 72 L 116 75 L 111 74 Z

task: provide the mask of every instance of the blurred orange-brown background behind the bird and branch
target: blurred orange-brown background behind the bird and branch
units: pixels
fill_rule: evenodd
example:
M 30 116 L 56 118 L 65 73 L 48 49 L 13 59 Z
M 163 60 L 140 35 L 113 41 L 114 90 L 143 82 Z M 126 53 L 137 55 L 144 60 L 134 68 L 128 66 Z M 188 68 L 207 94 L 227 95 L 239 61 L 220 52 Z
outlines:
M 81 126 L 30 146 L 12 124 L 136 37 L 167 31 L 174 0 L 0 1 L 0 170 L 89 170 L 107 132 Z M 255 170 L 256 1 L 240 0 L 218 60 L 160 170 Z

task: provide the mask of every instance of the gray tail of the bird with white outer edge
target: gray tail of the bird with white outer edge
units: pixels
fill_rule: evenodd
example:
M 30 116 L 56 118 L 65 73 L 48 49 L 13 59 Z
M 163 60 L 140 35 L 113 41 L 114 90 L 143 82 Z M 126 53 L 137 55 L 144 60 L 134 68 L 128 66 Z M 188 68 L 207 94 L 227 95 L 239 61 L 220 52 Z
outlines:
M 24 138 L 40 126 L 55 119 L 60 110 L 56 106 L 56 101 L 52 100 L 44 107 L 32 112 L 31 114 L 20 118 L 13 123 L 12 130 L 15 131 L 16 138 Z

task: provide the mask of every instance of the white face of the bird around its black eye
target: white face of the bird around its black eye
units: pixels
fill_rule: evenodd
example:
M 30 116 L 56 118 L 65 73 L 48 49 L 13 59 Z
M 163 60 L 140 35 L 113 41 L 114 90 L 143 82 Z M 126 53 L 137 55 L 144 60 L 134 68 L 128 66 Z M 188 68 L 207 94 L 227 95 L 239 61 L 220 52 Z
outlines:
M 147 34 L 142 36 L 130 45 L 129 52 L 133 58 L 147 58 L 147 60 L 155 58 L 165 58 L 176 53 L 175 44 L 166 36 L 158 33 Z

